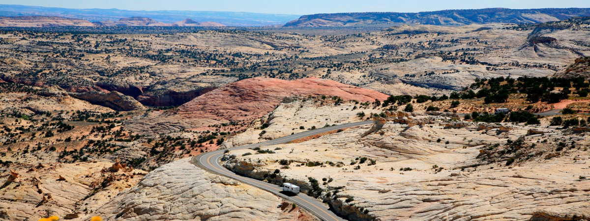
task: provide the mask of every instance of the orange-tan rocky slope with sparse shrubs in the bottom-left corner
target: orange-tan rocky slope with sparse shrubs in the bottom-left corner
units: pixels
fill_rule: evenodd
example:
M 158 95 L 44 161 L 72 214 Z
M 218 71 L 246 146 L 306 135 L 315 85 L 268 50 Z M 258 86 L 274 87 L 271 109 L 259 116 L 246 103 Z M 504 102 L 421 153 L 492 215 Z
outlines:
M 0 219 L 38 220 L 47 213 L 86 216 L 146 174 L 133 169 L 103 171 L 112 164 L 15 163 L 8 170 L 0 167 Z

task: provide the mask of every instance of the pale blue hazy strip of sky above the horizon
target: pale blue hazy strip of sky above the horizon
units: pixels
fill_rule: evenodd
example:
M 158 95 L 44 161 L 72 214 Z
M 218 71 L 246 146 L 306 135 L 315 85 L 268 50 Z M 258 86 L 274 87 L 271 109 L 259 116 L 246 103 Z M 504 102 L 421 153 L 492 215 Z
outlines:
M 334 12 L 421 12 L 477 8 L 590 8 L 590 0 L 0 0 L 0 4 L 148 11 L 237 11 L 297 15 Z

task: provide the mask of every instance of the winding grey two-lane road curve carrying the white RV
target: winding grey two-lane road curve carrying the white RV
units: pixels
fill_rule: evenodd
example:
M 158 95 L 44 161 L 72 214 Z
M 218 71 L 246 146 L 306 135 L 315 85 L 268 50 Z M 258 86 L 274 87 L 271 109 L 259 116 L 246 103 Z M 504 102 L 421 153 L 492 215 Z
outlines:
M 198 156 L 195 156 L 193 158 L 193 161 L 199 167 L 201 167 L 205 170 L 211 171 L 212 173 L 217 173 L 222 176 L 227 176 L 227 177 L 230 177 L 235 180 L 240 180 L 240 182 L 242 182 L 242 183 L 250 184 L 252 186 L 255 186 L 260 189 L 264 189 L 264 190 L 267 190 L 271 193 L 274 193 L 277 196 L 288 199 L 291 202 L 296 203 L 298 206 L 303 207 L 307 211 L 313 213 L 314 215 L 316 215 L 318 218 L 320 218 L 322 220 L 345 220 L 345 219 L 342 219 L 342 217 L 337 216 L 331 210 L 329 210 L 328 206 L 326 206 L 326 204 L 319 202 L 319 200 L 317 200 L 311 196 L 307 196 L 304 193 L 300 193 L 296 196 L 287 196 L 286 194 L 280 193 L 281 191 L 283 191 L 283 187 L 277 186 L 276 184 L 262 182 L 260 180 L 240 176 L 238 174 L 233 173 L 232 171 L 230 171 L 228 169 L 225 169 L 225 167 L 221 166 L 221 163 L 219 163 L 219 162 L 221 160 L 221 157 L 224 155 L 225 150 L 231 151 L 231 150 L 247 149 L 247 148 L 258 147 L 258 146 L 269 146 L 269 145 L 273 145 L 273 144 L 283 144 L 283 143 L 288 143 L 291 140 L 295 140 L 297 138 L 307 137 L 307 136 L 311 136 L 314 134 L 323 133 L 326 131 L 337 130 L 337 129 L 342 129 L 342 128 L 346 128 L 346 127 L 360 126 L 360 125 L 371 124 L 371 123 L 373 123 L 372 120 L 371 121 L 356 122 L 356 123 L 341 124 L 341 125 L 332 126 L 332 127 L 318 128 L 316 130 L 309 130 L 309 131 L 305 131 L 305 132 L 298 133 L 298 134 L 292 134 L 290 136 L 276 138 L 274 140 L 264 141 L 261 143 L 248 144 L 248 145 L 244 145 L 244 146 L 240 146 L 240 147 L 232 147 L 230 149 L 216 150 L 216 151 L 211 151 L 211 152 L 204 153 L 204 154 L 199 154 Z

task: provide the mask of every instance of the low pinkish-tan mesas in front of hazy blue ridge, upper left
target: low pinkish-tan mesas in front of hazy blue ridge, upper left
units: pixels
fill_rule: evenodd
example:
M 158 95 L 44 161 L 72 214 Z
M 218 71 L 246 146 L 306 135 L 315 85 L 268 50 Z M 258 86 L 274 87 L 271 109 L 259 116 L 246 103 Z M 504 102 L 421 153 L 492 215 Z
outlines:
M 218 22 L 196 22 L 192 19 L 174 22 L 172 24 L 155 21 L 146 17 L 120 18 L 117 21 L 90 22 L 84 19 L 64 18 L 54 16 L 15 16 L 0 17 L 0 27 L 100 27 L 100 26 L 136 26 L 136 27 L 224 27 Z

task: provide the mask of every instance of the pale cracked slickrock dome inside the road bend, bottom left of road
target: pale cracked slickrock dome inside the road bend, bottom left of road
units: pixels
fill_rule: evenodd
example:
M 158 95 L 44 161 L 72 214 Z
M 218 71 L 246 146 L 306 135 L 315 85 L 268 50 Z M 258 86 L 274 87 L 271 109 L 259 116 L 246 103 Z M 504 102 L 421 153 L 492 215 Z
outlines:
M 208 173 L 190 160 L 153 170 L 91 216 L 105 220 L 316 220 L 299 207 L 278 207 L 289 202 L 271 193 Z

